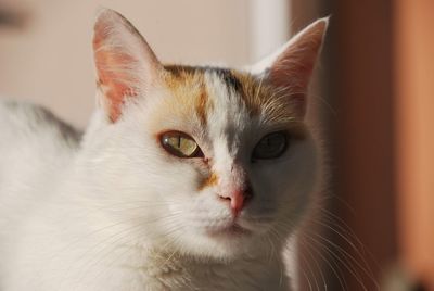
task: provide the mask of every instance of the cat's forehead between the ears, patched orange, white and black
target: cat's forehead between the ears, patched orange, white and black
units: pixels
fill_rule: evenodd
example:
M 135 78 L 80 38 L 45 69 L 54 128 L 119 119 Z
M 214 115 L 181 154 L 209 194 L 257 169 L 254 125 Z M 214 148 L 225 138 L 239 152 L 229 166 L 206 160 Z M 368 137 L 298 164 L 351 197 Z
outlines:
M 241 125 L 240 118 L 285 124 L 293 119 L 289 98 L 263 76 L 210 66 L 165 66 L 175 114 L 200 122 Z M 239 123 L 237 123 L 239 122 Z

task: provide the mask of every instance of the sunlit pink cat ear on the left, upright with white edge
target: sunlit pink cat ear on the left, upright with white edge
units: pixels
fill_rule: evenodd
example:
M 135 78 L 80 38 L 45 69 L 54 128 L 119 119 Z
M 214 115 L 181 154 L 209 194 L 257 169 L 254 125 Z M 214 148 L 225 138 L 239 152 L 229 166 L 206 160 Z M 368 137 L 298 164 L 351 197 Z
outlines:
M 116 122 L 126 102 L 150 91 L 163 66 L 140 33 L 110 9 L 98 14 L 93 53 L 99 102 L 110 121 Z

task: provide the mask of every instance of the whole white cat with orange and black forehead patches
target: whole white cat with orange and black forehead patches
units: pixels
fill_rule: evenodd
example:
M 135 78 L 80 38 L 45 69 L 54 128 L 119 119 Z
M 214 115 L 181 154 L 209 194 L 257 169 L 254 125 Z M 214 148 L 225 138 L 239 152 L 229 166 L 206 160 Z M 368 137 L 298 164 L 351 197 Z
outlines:
M 0 290 L 293 290 L 318 187 L 305 123 L 328 20 L 243 69 L 164 65 L 108 9 L 85 132 L 0 102 Z

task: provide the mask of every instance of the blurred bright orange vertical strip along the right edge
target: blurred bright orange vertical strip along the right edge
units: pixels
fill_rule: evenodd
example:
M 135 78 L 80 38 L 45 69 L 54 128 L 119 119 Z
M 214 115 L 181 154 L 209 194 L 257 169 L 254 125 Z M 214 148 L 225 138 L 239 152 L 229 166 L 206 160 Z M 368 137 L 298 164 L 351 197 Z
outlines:
M 395 13 L 400 253 L 434 290 L 434 1 L 397 0 Z

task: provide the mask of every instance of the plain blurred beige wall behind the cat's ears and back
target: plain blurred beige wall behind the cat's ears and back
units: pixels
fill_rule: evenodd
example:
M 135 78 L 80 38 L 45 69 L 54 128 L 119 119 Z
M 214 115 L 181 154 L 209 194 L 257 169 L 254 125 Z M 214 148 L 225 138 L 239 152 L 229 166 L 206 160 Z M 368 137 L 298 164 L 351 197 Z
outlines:
M 250 47 L 257 31 L 250 29 L 258 15 L 257 9 L 252 13 L 255 2 L 2 0 L 0 5 L 17 8 L 29 18 L 24 29 L 0 28 L 0 94 L 34 100 L 85 126 L 93 107 L 90 41 L 99 5 L 126 15 L 164 62 L 242 65 L 264 53 Z M 270 4 L 277 2 L 282 1 Z

